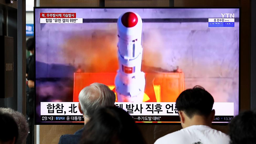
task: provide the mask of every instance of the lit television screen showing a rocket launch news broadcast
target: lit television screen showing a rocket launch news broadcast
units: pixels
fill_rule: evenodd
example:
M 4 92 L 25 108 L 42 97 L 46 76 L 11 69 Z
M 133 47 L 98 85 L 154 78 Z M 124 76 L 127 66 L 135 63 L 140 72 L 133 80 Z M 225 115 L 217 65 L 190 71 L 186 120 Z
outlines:
M 239 111 L 239 8 L 35 7 L 35 124 L 83 124 L 78 94 L 94 82 L 140 123 L 178 123 L 196 85 L 214 123 Z

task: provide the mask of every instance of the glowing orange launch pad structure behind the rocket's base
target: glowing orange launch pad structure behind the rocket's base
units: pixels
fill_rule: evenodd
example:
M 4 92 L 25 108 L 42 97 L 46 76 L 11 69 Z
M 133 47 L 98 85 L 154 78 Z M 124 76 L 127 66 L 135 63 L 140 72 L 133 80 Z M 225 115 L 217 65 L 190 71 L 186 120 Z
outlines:
M 73 102 L 79 102 L 80 91 L 94 82 L 106 84 L 116 93 L 115 76 L 116 73 L 74 73 Z M 175 102 L 185 90 L 183 72 L 145 73 L 145 79 L 143 102 Z

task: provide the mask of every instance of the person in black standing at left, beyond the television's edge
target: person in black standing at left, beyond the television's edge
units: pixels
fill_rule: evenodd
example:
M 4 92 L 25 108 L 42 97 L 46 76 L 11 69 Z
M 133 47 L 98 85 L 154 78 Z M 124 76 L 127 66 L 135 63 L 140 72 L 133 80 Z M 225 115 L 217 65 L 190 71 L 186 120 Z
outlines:
M 34 143 L 34 82 L 35 82 L 35 60 L 34 60 L 34 38 L 26 41 L 26 49 L 32 54 L 26 59 L 26 117 L 29 122 L 29 135 L 27 144 Z

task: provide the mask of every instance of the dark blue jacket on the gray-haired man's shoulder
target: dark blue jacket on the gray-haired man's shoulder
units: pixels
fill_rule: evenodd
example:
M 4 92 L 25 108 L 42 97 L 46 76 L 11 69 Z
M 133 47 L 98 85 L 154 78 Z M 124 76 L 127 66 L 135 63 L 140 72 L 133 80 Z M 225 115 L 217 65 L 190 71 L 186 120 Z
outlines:
M 76 131 L 73 135 L 62 135 L 58 144 L 78 144 L 83 134 L 83 128 Z

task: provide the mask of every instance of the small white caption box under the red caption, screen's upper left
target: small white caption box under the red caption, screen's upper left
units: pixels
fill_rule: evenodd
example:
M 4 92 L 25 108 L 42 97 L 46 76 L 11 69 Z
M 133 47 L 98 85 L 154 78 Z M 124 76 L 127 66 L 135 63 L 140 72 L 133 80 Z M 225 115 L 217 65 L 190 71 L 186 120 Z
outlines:
M 82 24 L 83 18 L 40 18 L 40 24 Z

